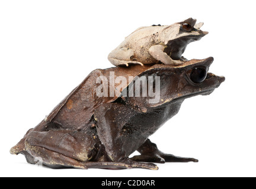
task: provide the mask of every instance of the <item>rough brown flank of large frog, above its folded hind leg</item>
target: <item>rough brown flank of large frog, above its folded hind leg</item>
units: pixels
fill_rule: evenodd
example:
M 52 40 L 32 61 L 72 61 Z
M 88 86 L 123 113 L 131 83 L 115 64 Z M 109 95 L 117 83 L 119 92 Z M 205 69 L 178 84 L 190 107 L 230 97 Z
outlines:
M 88 125 L 91 117 L 101 103 L 107 102 L 111 97 L 98 97 L 97 78 L 103 70 L 92 71 L 87 78 L 79 84 L 59 105 L 53 109 L 46 121 L 57 123 L 63 128 L 77 129 Z

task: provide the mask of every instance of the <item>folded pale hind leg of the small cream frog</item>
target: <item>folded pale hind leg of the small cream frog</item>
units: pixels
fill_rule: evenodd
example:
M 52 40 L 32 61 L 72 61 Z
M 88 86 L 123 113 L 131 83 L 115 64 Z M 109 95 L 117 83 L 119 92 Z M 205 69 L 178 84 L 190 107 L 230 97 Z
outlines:
M 129 66 L 129 63 L 140 64 L 141 66 L 143 66 L 143 64 L 139 61 L 131 60 L 132 57 L 134 57 L 134 51 L 132 50 L 132 48 L 128 47 L 116 48 L 110 54 L 108 54 L 108 60 L 115 66 Z

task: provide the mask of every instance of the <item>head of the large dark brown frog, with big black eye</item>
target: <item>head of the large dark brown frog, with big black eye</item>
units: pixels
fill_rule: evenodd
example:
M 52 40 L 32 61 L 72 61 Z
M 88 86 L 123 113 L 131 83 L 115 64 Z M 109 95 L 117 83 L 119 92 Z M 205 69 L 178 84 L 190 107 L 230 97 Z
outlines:
M 165 73 L 171 69 L 174 74 L 170 75 L 173 77 L 169 82 L 162 83 L 161 87 L 163 89 L 169 89 L 167 91 L 162 90 L 163 92 L 167 92 L 167 94 L 161 93 L 161 99 L 164 100 L 151 106 L 156 107 L 159 104 L 164 105 L 165 103 L 181 102 L 193 96 L 212 93 L 225 81 L 225 77 L 209 72 L 213 60 L 213 57 L 208 57 L 203 60 L 192 59 L 185 61 L 185 63 L 178 66 L 164 64 L 153 66 L 155 68 L 161 68 Z

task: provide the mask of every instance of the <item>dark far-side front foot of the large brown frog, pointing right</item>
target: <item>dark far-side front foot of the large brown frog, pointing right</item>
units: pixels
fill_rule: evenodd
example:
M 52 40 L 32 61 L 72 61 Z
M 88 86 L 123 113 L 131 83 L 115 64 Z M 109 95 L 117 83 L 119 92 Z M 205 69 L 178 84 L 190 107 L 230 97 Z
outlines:
M 149 139 L 137 149 L 141 155 L 136 155 L 131 159 L 133 161 L 145 161 L 145 162 L 158 162 L 158 163 L 165 163 L 165 162 L 199 162 L 197 159 L 194 158 L 183 158 L 177 157 L 172 154 L 165 154 L 157 148 L 156 144 L 153 144 Z

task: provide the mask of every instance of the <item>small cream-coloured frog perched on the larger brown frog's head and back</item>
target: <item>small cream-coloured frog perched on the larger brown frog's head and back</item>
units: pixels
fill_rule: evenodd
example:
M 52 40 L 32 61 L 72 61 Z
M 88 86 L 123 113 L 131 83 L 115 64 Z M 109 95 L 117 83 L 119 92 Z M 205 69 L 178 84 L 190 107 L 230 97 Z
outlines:
M 198 41 L 207 31 L 201 31 L 203 22 L 196 24 L 196 19 L 172 25 L 152 25 L 140 27 L 128 35 L 123 43 L 108 55 L 108 60 L 115 66 L 132 64 L 153 64 L 161 61 L 168 65 L 179 65 L 187 61 L 182 57 L 187 45 Z

